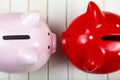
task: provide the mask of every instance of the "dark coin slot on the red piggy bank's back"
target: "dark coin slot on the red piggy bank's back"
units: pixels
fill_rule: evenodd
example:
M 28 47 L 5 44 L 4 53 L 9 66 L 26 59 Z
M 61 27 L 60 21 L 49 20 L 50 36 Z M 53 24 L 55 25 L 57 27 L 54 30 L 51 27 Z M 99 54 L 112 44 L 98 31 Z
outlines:
M 103 41 L 120 41 L 120 35 L 102 36 L 101 39 Z

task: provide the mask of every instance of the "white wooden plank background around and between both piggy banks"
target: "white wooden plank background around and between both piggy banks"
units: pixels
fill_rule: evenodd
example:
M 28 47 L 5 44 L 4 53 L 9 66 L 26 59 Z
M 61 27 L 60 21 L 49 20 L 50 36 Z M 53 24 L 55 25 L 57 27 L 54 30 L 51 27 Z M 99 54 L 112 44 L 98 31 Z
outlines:
M 90 0 L 0 0 L 0 13 L 38 10 L 58 36 L 58 49 L 41 69 L 32 73 L 0 72 L 0 80 L 120 80 L 120 71 L 106 75 L 87 74 L 76 69 L 61 54 L 60 36 L 70 22 L 86 11 Z M 102 10 L 120 14 L 120 0 L 92 0 Z

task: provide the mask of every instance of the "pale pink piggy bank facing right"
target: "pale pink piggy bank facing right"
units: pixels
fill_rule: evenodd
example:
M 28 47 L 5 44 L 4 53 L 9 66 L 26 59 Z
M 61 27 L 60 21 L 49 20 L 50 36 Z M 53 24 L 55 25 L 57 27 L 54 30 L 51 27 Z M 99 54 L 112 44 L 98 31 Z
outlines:
M 0 14 L 0 71 L 34 71 L 55 50 L 56 35 L 38 12 Z

